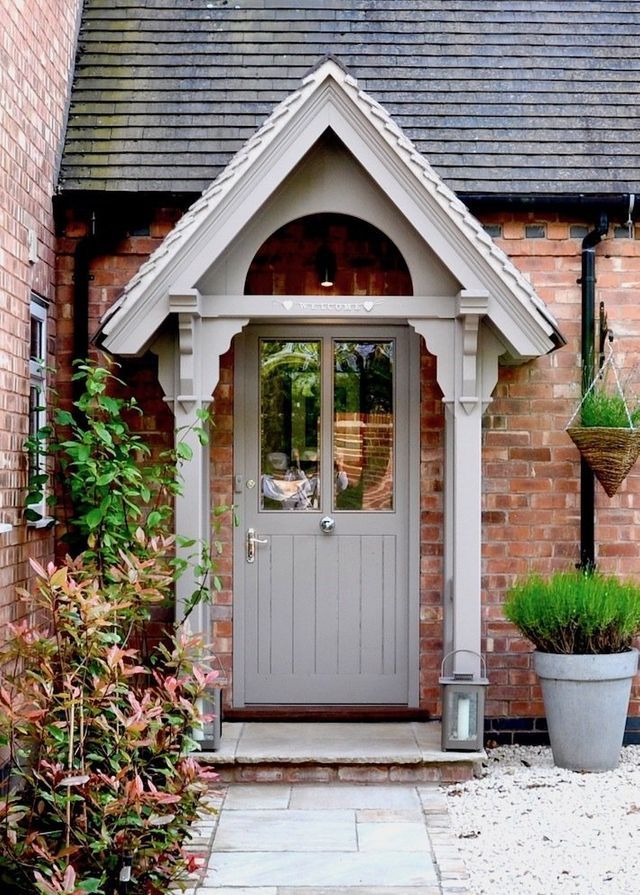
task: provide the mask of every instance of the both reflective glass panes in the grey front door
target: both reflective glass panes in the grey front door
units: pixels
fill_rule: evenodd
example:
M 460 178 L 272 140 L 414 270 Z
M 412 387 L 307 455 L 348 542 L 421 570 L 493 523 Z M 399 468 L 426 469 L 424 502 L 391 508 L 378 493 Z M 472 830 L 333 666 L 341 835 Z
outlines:
M 331 344 L 332 456 L 323 466 L 322 342 L 260 340 L 262 510 L 320 510 L 330 469 L 332 511 L 393 510 L 394 342 Z

